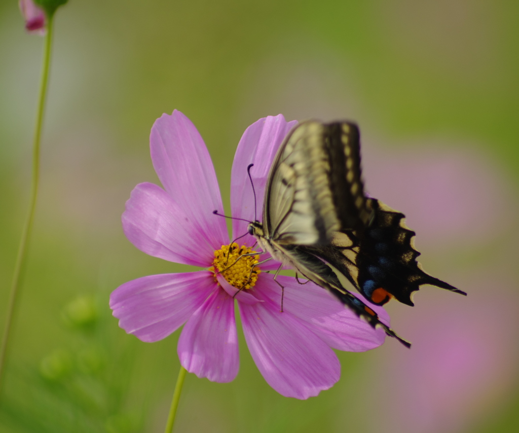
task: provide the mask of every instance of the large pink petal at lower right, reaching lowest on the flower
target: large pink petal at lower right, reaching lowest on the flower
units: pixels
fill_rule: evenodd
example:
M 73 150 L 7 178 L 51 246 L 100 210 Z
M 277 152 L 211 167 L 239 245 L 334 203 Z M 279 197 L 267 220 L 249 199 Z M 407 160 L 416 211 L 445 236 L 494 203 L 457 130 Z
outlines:
M 270 300 L 239 306 L 252 358 L 278 393 L 304 400 L 339 380 L 340 363 L 334 351 L 303 321 L 280 313 Z

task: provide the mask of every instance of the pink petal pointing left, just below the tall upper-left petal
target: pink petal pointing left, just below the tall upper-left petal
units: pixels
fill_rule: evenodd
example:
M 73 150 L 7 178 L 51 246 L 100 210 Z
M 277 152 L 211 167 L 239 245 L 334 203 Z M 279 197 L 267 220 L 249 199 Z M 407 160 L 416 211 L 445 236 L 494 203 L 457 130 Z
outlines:
M 122 214 L 122 228 L 131 243 L 164 260 L 208 267 L 214 249 L 193 221 L 160 186 L 140 183 Z

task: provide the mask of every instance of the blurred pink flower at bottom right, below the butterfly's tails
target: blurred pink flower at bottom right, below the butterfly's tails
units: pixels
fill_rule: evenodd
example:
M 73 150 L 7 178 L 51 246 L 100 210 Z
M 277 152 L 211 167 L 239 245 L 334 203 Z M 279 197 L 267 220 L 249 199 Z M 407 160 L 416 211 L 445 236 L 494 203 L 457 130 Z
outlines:
M 372 376 L 380 387 L 373 404 L 383 408 L 374 429 L 466 431 L 507 401 L 519 379 L 519 300 L 511 285 L 479 274 L 461 285 L 471 289 L 466 298 L 421 294 L 423 307 L 399 321 L 412 350 L 385 347 L 383 374 Z

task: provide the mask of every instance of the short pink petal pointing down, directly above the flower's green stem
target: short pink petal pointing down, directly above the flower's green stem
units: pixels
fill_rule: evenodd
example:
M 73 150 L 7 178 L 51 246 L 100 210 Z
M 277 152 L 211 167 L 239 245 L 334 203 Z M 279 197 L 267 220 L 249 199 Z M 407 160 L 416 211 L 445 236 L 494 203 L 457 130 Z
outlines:
M 212 382 L 234 380 L 239 356 L 233 297 L 215 291 L 185 324 L 177 351 L 188 372 Z

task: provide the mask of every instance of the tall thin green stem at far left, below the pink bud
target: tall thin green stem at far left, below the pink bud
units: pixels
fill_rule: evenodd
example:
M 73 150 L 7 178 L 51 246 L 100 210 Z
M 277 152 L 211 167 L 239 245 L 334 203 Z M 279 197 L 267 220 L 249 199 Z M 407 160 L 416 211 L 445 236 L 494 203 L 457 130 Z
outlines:
M 39 88 L 38 111 L 36 114 L 36 126 L 34 130 L 33 141 L 33 161 L 32 161 L 32 182 L 31 182 L 31 197 L 29 201 L 29 211 L 25 225 L 23 226 L 22 238 L 20 240 L 20 247 L 16 258 L 15 272 L 12 277 L 11 293 L 9 297 L 9 304 L 7 307 L 7 315 L 5 320 L 4 335 L 2 337 L 2 346 L 0 346 L 0 395 L 2 393 L 3 378 L 5 370 L 5 361 L 9 349 L 9 338 L 11 336 L 13 317 L 15 316 L 16 304 L 20 292 L 20 285 L 27 259 L 27 250 L 29 240 L 31 238 L 31 231 L 34 221 L 34 210 L 36 208 L 36 198 L 38 195 L 38 180 L 39 180 L 39 143 L 42 137 L 42 123 L 43 114 L 45 110 L 45 100 L 47 97 L 47 86 L 49 82 L 49 64 L 50 64 L 50 50 L 52 43 L 52 22 L 53 15 L 47 17 L 47 35 L 45 37 L 45 48 L 43 53 L 42 78 Z

